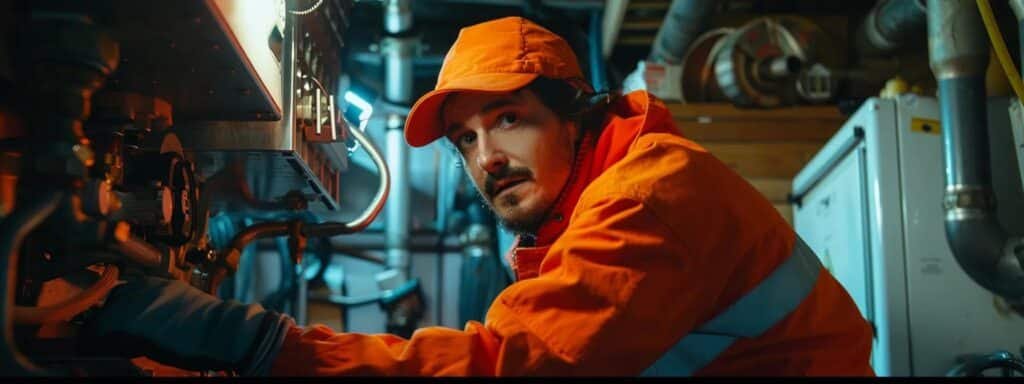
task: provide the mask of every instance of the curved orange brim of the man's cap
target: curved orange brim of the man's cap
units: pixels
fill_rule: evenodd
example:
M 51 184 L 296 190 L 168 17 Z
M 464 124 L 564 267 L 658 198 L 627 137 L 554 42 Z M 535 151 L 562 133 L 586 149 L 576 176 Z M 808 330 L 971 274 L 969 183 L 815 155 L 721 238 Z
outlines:
M 477 92 L 502 93 L 522 88 L 540 76 L 538 74 L 479 74 L 454 79 L 442 89 L 435 89 L 420 97 L 406 118 L 406 142 L 423 146 L 444 135 L 441 123 L 441 105 L 451 93 Z

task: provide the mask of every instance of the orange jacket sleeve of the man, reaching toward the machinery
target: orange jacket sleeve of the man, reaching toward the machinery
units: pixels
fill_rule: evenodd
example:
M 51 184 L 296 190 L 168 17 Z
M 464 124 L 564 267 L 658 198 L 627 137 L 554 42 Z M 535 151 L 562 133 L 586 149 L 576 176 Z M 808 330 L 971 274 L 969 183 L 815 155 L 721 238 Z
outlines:
M 636 375 L 710 308 L 687 291 L 684 245 L 639 201 L 580 202 L 535 279 L 506 288 L 485 324 L 392 335 L 294 328 L 275 375 Z M 707 305 L 705 305 L 707 307 Z M 685 308 L 685 309 L 684 309 Z

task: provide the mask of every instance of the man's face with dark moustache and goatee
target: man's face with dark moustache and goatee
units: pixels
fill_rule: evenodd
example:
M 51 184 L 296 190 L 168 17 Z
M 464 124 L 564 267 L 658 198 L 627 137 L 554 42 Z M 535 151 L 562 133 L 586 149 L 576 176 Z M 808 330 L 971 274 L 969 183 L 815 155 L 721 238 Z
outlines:
M 575 124 L 527 89 L 450 95 L 441 120 L 490 209 L 508 228 L 536 232 L 572 170 Z

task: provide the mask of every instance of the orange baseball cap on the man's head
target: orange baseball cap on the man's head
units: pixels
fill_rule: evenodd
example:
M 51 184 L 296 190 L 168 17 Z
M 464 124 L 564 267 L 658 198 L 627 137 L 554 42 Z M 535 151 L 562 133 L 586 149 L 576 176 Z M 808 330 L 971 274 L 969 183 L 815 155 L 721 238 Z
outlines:
M 503 17 L 459 31 L 444 55 L 437 85 L 406 119 L 406 142 L 423 146 L 444 136 L 441 105 L 453 92 L 510 92 L 539 76 L 590 90 L 564 39 L 522 17 Z

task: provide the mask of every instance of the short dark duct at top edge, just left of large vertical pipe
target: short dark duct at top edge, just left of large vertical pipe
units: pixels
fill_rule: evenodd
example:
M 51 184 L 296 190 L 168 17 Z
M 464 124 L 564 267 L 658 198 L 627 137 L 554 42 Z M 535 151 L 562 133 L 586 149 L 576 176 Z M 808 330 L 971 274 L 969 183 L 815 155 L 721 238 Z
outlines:
M 924 0 L 881 0 L 857 29 L 860 54 L 892 53 L 925 35 L 928 16 Z

